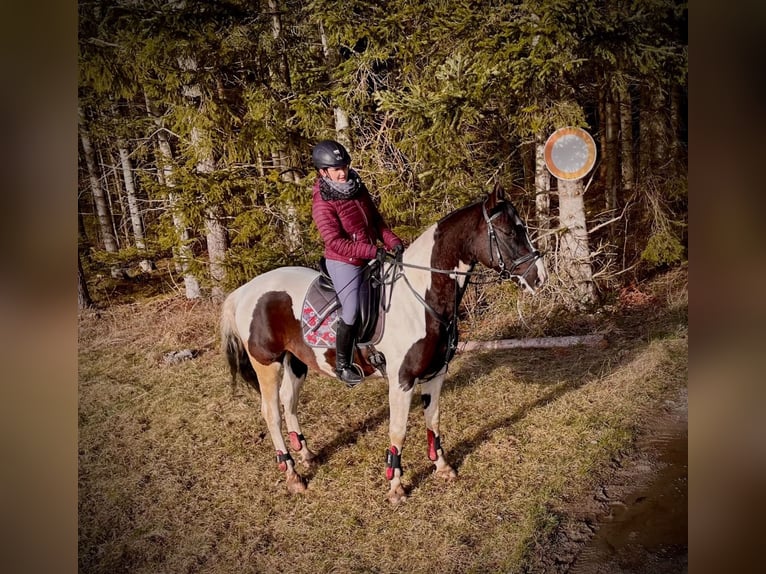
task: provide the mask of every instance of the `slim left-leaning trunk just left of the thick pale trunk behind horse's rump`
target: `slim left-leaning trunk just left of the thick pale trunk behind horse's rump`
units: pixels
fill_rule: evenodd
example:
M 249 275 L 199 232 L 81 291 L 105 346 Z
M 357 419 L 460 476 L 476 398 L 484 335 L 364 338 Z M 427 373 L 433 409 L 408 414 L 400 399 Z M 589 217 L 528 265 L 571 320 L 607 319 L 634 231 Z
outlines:
M 194 257 L 191 247 L 189 246 L 189 239 L 191 234 L 189 229 L 184 223 L 183 217 L 179 212 L 179 207 L 175 195 L 172 192 L 175 187 L 173 181 L 173 151 L 170 147 L 170 141 L 168 141 L 167 133 L 162 123 L 162 118 L 154 109 L 148 96 L 146 97 L 146 109 L 149 116 L 154 120 L 157 125 L 157 144 L 159 148 L 159 160 L 158 174 L 161 173 L 162 181 L 168 188 L 168 209 L 173 218 L 173 227 L 176 230 L 178 237 L 178 247 L 175 249 L 176 269 L 183 275 L 184 278 L 184 290 L 186 292 L 187 299 L 199 299 L 202 297 L 202 289 L 199 281 L 190 270 L 190 261 Z M 160 177 L 158 175 L 158 177 Z

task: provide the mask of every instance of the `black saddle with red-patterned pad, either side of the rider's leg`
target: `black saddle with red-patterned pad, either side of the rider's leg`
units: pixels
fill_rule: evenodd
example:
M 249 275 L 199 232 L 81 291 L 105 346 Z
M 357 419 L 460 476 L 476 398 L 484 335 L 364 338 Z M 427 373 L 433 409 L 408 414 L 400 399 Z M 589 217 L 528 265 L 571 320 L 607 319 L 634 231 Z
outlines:
M 386 314 L 382 312 L 384 286 L 381 279 L 381 265 L 373 264 L 364 268 L 362 281 L 369 285 L 367 297 L 359 302 L 357 318 L 357 347 L 380 342 Z M 340 301 L 327 272 L 325 258 L 319 260 L 320 274 L 306 291 L 301 313 L 303 339 L 311 347 L 335 348 L 335 332 Z

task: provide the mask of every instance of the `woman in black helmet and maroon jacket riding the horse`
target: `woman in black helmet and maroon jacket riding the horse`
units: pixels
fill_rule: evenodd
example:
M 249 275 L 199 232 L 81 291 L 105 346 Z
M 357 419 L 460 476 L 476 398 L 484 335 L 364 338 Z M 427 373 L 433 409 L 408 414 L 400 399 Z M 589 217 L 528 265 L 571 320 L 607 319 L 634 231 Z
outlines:
M 359 303 L 366 285 L 364 266 L 383 261 L 388 249 L 399 256 L 402 240 L 389 229 L 359 174 L 350 169 L 351 156 L 334 140 L 323 140 L 311 152 L 318 176 L 312 195 L 312 216 L 325 245 L 324 256 L 341 310 L 336 332 L 335 373 L 348 386 L 362 381 L 351 367 L 358 328 Z M 378 247 L 382 242 L 385 246 Z

